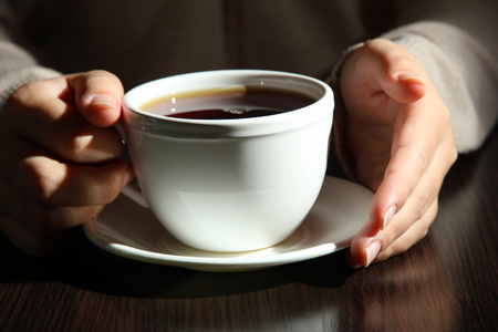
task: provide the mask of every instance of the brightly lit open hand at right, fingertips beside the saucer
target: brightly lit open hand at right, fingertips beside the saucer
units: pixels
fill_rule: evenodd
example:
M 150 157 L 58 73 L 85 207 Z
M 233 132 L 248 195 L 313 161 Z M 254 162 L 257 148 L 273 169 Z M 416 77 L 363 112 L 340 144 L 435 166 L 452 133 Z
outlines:
M 365 267 L 425 237 L 457 149 L 449 110 L 429 75 L 394 42 L 372 40 L 352 52 L 341 91 L 357 180 L 375 193 L 347 251 L 352 267 Z

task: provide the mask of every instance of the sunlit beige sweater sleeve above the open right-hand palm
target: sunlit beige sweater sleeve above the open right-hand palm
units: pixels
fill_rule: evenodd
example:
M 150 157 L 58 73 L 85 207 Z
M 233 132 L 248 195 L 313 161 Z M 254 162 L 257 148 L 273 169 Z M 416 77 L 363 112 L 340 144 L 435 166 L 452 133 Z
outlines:
M 464 19 L 461 24 L 425 21 L 384 35 L 411 51 L 430 76 L 449 108 L 459 153 L 478 148 L 498 117 L 498 15 L 494 13 L 494 21 L 481 27 L 483 15 L 475 15 L 471 29 L 465 29 Z

